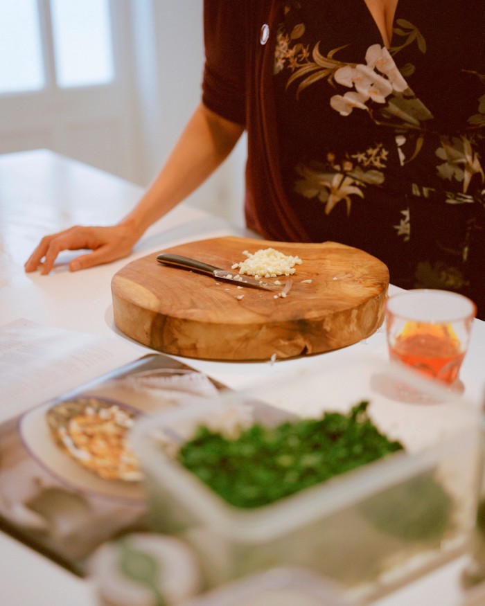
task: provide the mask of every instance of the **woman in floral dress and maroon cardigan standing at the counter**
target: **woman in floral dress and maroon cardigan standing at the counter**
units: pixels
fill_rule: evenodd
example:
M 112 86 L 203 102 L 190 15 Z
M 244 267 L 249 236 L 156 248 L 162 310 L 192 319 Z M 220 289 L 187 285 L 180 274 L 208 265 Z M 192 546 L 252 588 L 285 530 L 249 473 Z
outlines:
M 485 314 L 485 6 L 458 0 L 205 0 L 202 103 L 116 226 L 47 236 L 89 267 L 125 256 L 248 134 L 247 225 L 372 253 L 391 282 Z

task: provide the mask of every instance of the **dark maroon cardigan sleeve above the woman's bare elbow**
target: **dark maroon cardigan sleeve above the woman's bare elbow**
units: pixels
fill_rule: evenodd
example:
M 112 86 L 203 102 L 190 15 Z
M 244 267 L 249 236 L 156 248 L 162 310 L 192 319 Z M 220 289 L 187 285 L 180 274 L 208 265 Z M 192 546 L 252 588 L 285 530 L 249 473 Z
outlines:
M 245 0 L 204 0 L 202 102 L 245 125 Z

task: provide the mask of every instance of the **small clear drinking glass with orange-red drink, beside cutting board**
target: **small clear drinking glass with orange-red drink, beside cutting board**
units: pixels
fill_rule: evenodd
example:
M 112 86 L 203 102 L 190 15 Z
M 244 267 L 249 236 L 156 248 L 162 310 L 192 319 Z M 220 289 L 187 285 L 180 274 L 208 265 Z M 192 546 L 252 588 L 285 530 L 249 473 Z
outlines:
M 446 384 L 457 381 L 477 308 L 446 290 L 414 289 L 389 297 L 385 306 L 391 360 Z

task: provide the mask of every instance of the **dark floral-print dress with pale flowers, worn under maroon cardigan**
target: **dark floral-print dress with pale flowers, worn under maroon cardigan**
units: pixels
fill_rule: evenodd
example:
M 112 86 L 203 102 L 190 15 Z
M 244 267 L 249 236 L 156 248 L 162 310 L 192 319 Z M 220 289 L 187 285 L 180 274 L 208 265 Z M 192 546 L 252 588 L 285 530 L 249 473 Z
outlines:
M 485 313 L 485 11 L 399 0 L 386 48 L 364 0 L 282 3 L 274 93 L 285 195 L 308 240 L 360 247 L 406 288 Z

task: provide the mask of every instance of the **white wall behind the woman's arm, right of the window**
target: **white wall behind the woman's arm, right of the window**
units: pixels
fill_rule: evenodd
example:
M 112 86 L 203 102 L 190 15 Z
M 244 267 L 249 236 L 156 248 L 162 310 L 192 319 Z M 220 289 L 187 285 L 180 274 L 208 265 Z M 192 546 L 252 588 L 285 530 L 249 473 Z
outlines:
M 202 0 L 132 0 L 136 102 L 145 185 L 168 157 L 200 100 L 204 46 Z M 245 137 L 189 198 L 243 225 Z

